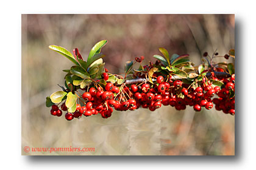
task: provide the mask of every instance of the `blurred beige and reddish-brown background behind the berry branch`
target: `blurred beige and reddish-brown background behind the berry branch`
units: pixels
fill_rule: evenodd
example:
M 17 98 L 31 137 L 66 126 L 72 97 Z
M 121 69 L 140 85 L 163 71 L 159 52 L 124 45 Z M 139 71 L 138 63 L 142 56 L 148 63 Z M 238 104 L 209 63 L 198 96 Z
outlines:
M 123 73 L 124 63 L 145 56 L 155 61 L 158 47 L 188 53 L 195 63 L 202 53 L 235 48 L 235 15 L 22 15 L 22 154 L 23 155 L 234 155 L 235 117 L 215 109 L 194 112 L 163 106 L 66 121 L 50 115 L 45 98 L 64 86 L 62 72 L 73 65 L 48 48 L 87 58 L 102 39 L 105 67 Z M 224 59 L 218 59 L 227 61 Z M 233 62 L 230 58 L 227 62 Z M 24 152 L 32 147 L 94 147 L 95 152 Z

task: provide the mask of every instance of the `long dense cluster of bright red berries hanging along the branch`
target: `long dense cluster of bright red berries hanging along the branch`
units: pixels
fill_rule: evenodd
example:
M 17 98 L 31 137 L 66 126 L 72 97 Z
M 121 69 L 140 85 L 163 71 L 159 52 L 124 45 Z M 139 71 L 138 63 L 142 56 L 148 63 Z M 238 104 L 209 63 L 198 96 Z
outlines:
M 108 79 L 108 74 L 103 73 L 102 78 Z M 215 78 L 215 77 L 213 77 Z M 177 110 L 184 110 L 187 106 L 193 106 L 194 110 L 200 111 L 202 107 L 212 109 L 215 103 L 216 110 L 223 110 L 225 114 L 235 114 L 235 98 L 230 98 L 231 90 L 235 91 L 235 75 L 231 78 L 221 80 L 225 87 L 213 87 L 211 82 L 205 82 L 203 78 L 199 87 L 195 89 L 190 84 L 185 84 L 180 80 L 157 77 L 156 83 L 130 84 L 121 87 L 114 86 L 108 82 L 104 89 L 102 87 L 90 87 L 87 92 L 79 98 L 80 104 L 76 105 L 76 112 L 66 113 L 66 120 L 80 118 L 82 115 L 88 117 L 101 114 L 102 118 L 112 115 L 113 109 L 119 111 L 135 110 L 140 107 L 148 108 L 151 111 L 164 106 L 172 106 Z M 215 78 L 216 79 L 216 78 Z M 164 81 L 165 80 L 165 81 Z M 214 95 L 219 98 L 213 98 Z M 212 99 L 213 98 L 213 99 Z M 66 111 L 65 103 L 61 109 Z M 62 111 L 56 105 L 52 106 L 52 115 L 61 116 Z

